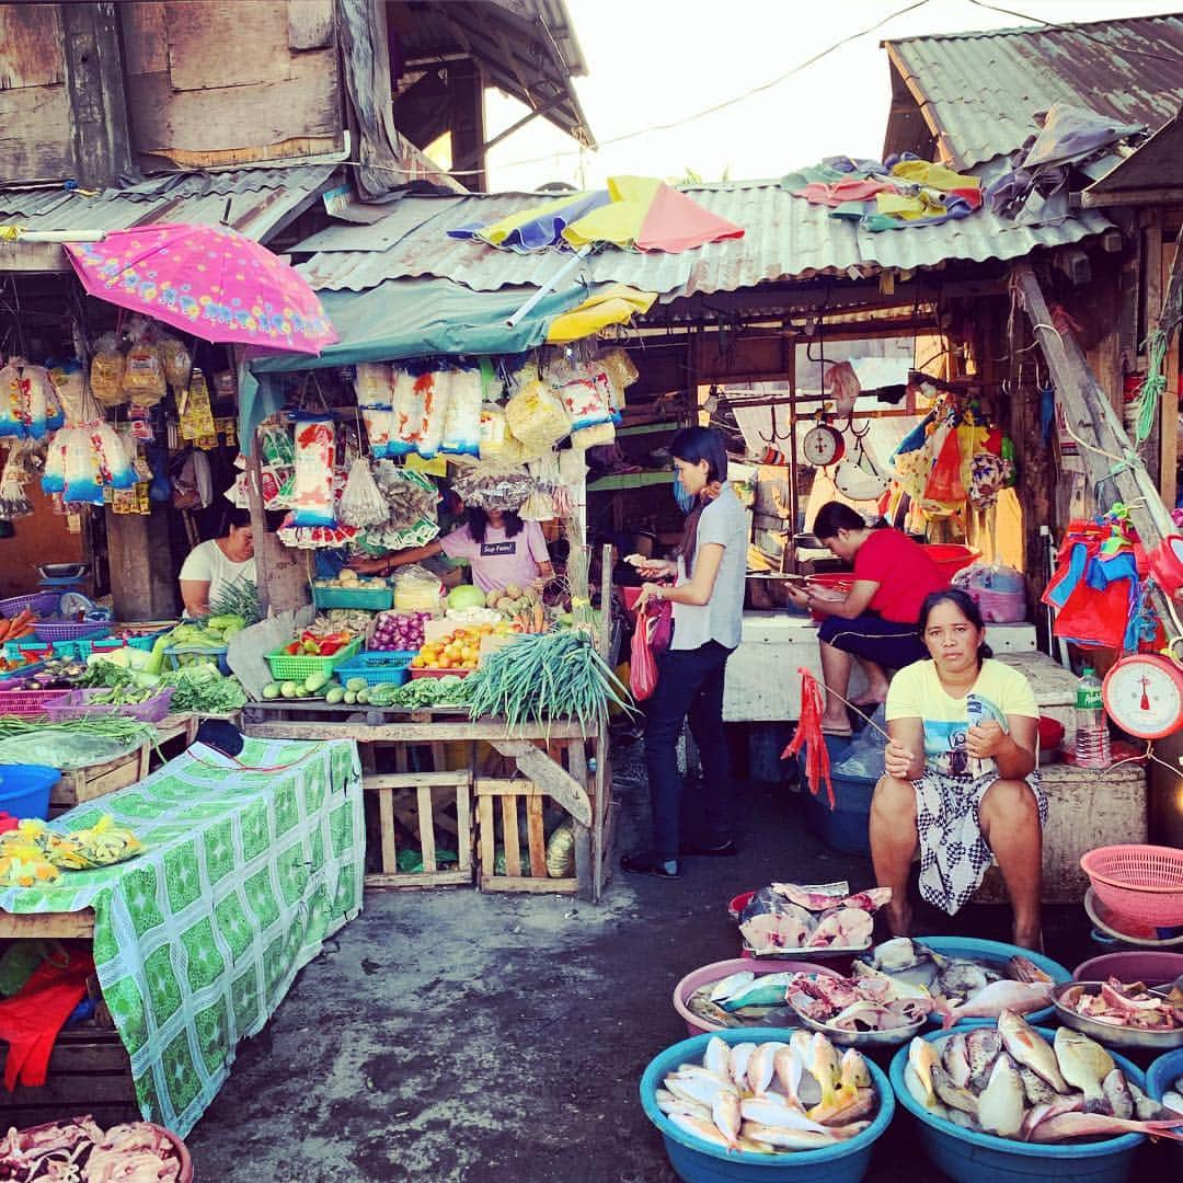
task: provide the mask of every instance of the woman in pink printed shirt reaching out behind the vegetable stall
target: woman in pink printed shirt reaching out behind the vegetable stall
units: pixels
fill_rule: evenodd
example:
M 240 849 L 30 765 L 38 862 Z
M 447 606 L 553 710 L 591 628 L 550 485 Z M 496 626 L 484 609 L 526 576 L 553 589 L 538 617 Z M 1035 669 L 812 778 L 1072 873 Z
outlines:
M 481 592 L 530 586 L 542 590 L 555 577 L 547 539 L 537 522 L 523 522 L 512 510 L 465 510 L 465 523 L 426 547 L 400 550 L 382 558 L 356 560 L 349 565 L 367 575 L 389 575 L 397 567 L 420 563 L 434 555 L 457 558 L 472 568 L 472 582 Z

